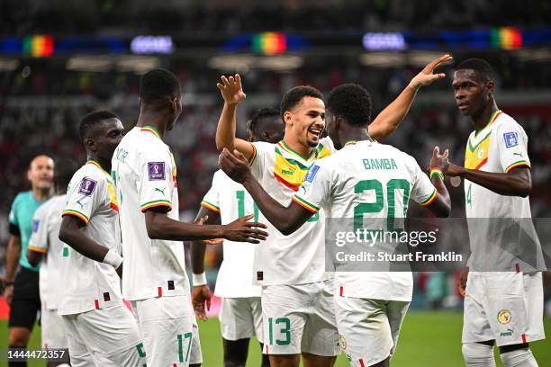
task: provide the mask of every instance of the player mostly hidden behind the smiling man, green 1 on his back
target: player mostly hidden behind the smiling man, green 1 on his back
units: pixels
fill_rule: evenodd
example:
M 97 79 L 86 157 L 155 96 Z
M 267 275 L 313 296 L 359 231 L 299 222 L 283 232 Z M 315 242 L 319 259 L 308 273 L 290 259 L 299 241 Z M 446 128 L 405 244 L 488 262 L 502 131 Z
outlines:
M 279 111 L 263 108 L 247 124 L 249 141 L 276 143 L 283 138 L 284 124 Z M 253 213 L 258 218 L 258 208 L 239 183 L 235 183 L 222 171 L 212 177 L 212 186 L 204 195 L 197 219 L 208 216 L 205 223 L 221 223 Z M 206 319 L 204 306 L 211 299 L 204 274 L 204 250 L 201 242 L 192 244 L 194 270 L 194 310 L 199 318 Z M 254 285 L 253 261 L 255 246 L 238 242 L 223 242 L 223 261 L 217 274 L 214 294 L 221 297 L 221 335 L 224 346 L 224 363 L 240 366 L 247 363 L 248 342 L 257 336 L 260 352 L 263 350 L 262 306 L 260 287 Z M 208 306 L 208 304 L 207 304 Z M 262 365 L 269 366 L 268 356 L 262 354 Z

